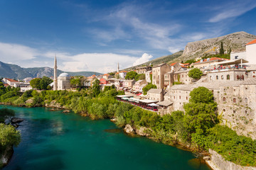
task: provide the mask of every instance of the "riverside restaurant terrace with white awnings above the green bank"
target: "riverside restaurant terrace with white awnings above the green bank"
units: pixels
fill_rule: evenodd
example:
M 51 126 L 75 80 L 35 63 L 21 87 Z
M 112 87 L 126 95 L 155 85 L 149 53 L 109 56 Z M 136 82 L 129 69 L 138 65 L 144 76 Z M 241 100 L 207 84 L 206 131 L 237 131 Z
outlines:
M 132 96 L 129 95 L 119 95 L 117 96 L 117 101 L 122 101 L 125 103 L 130 103 L 134 106 L 139 106 L 141 108 L 150 110 L 150 111 L 158 111 L 158 107 L 159 105 L 157 105 L 156 103 L 158 101 L 153 101 L 153 100 L 149 100 L 149 99 L 138 99 L 138 98 L 133 98 Z

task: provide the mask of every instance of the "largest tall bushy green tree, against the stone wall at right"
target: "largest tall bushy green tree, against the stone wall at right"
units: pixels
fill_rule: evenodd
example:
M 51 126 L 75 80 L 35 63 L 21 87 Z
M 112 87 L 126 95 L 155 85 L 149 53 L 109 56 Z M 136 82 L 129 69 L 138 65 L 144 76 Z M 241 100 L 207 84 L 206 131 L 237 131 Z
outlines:
M 183 120 L 186 129 L 186 140 L 191 140 L 193 133 L 204 135 L 206 130 L 218 123 L 217 103 L 213 101 L 213 93 L 206 87 L 193 89 L 189 102 L 184 104 L 186 116 Z M 196 139 L 196 138 L 194 138 Z M 194 141 L 195 142 L 195 141 Z

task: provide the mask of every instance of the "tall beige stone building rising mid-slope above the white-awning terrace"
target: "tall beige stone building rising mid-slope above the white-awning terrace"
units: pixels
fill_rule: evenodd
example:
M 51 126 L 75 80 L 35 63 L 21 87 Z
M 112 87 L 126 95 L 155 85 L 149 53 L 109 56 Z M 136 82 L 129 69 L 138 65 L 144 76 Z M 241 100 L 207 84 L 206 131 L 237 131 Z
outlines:
M 166 63 L 159 64 L 152 69 L 152 84 L 155 84 L 157 89 L 164 89 L 164 74 L 171 72 L 171 66 Z

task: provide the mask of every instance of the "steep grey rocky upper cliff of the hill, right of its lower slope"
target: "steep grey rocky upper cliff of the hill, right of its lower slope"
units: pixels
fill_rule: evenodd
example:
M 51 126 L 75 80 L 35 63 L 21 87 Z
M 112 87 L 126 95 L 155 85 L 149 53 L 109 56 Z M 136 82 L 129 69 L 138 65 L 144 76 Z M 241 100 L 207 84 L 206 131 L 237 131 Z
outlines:
M 223 47 L 225 53 L 231 48 L 232 51 L 243 51 L 245 50 L 245 44 L 256 39 L 256 35 L 245 33 L 244 31 L 231 33 L 218 38 L 210 38 L 206 40 L 199 40 L 195 42 L 188 42 L 181 57 L 176 60 L 184 62 L 186 60 L 191 60 L 196 57 L 201 57 L 205 54 L 212 54 L 213 50 L 207 52 L 208 50 L 215 47 L 215 52 L 220 51 L 220 43 L 223 42 Z

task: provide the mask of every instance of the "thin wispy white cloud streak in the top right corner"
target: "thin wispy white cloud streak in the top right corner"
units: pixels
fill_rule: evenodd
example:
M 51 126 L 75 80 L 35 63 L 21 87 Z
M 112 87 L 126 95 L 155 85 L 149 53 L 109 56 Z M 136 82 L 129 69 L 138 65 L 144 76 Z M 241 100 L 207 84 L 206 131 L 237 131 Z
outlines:
M 252 1 L 232 1 L 232 3 L 223 5 L 223 8 L 218 9 L 218 14 L 215 14 L 209 19 L 210 23 L 216 23 L 228 18 L 241 16 L 247 11 L 256 7 L 255 0 Z

